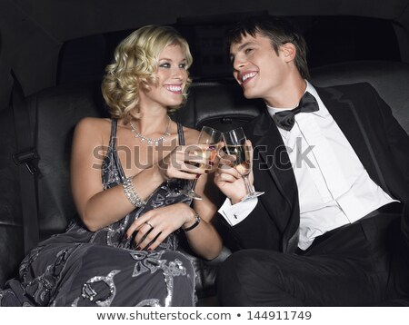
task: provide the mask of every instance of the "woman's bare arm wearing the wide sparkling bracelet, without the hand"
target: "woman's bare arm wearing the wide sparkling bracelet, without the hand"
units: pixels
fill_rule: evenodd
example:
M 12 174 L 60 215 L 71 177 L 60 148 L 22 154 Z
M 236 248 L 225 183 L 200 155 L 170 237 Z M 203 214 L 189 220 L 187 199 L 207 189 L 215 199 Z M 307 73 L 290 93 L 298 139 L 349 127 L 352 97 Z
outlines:
M 75 127 L 71 187 L 77 212 L 90 231 L 116 222 L 135 209 L 126 199 L 123 186 L 103 189 L 101 167 L 110 130 L 110 121 L 97 118 L 85 118 Z M 145 200 L 164 179 L 157 168 L 149 168 L 139 172 L 133 182 L 139 196 Z

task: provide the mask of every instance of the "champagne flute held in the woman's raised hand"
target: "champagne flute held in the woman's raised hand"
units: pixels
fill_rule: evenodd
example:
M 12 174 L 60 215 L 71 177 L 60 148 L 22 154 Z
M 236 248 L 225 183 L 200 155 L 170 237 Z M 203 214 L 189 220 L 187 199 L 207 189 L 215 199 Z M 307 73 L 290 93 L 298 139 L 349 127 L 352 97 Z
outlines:
M 208 162 L 214 162 L 214 158 L 217 156 L 217 149 L 219 146 L 219 143 L 222 141 L 223 134 L 210 127 L 210 126 L 203 126 L 202 130 L 199 134 L 199 138 L 197 140 L 197 143 L 200 144 L 207 144 L 208 148 L 203 149 L 198 151 L 198 154 L 201 155 L 203 158 L 205 158 Z M 195 163 L 195 162 L 188 162 L 190 164 L 195 165 L 196 167 L 201 167 L 201 168 L 209 168 L 203 163 Z M 208 164 L 210 165 L 210 163 Z M 212 168 L 212 165 L 210 165 L 210 169 Z M 189 188 L 186 190 L 181 190 L 183 194 L 185 194 L 188 197 L 191 197 L 195 200 L 202 200 L 202 197 L 195 192 L 195 185 L 197 182 L 197 178 L 195 180 L 190 181 L 189 183 Z

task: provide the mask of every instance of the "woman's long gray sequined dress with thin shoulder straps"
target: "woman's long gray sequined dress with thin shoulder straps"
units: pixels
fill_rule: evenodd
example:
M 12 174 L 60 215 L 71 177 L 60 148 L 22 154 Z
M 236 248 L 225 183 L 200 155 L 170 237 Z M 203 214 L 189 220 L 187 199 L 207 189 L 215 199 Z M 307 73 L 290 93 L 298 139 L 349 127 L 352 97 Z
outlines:
M 184 143 L 178 124 L 179 143 Z M 102 168 L 105 189 L 125 180 L 115 149 L 116 121 Z M 127 227 L 142 213 L 175 202 L 190 203 L 178 192 L 186 182 L 164 182 L 122 220 L 87 231 L 75 218 L 64 233 L 42 241 L 20 264 L 19 276 L 0 290 L 0 306 L 194 306 L 195 271 L 177 250 L 172 233 L 155 251 L 135 251 L 124 240 Z

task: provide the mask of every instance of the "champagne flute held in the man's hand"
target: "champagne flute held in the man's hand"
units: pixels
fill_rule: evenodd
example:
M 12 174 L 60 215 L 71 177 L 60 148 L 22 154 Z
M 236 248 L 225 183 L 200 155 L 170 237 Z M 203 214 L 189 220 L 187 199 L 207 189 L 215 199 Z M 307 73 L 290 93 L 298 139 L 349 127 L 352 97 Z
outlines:
M 240 172 L 244 179 L 245 187 L 247 188 L 247 194 L 242 201 L 253 199 L 257 196 L 264 194 L 264 192 L 255 192 L 253 186 L 250 185 L 248 175 L 252 170 L 252 162 L 250 158 L 250 148 L 246 143 L 244 130 L 242 127 L 238 127 L 234 130 L 223 133 L 224 139 L 224 151 L 227 154 L 234 155 L 235 160 L 233 162 L 234 169 Z

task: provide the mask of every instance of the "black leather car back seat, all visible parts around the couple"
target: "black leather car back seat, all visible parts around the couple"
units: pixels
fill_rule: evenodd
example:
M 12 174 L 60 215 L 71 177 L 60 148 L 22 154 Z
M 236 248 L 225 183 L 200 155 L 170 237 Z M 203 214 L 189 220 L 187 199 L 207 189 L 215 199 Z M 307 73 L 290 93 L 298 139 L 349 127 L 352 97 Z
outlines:
M 351 84 L 367 81 L 389 103 L 398 121 L 409 133 L 409 64 L 364 62 L 335 64 L 312 72 L 316 85 Z M 59 85 L 26 98 L 41 177 L 36 181 L 40 239 L 65 229 L 75 215 L 69 185 L 71 139 L 75 124 L 85 116 L 105 116 L 99 84 Z M 246 123 L 264 103 L 246 100 L 234 81 L 197 83 L 185 107 L 174 119 L 200 129 L 212 125 L 222 131 Z M 23 259 L 24 236 L 12 107 L 0 112 L 0 286 L 16 274 Z M 214 295 L 211 283 L 217 263 L 196 260 L 200 298 Z M 210 283 L 210 284 L 209 284 Z

